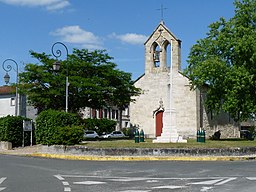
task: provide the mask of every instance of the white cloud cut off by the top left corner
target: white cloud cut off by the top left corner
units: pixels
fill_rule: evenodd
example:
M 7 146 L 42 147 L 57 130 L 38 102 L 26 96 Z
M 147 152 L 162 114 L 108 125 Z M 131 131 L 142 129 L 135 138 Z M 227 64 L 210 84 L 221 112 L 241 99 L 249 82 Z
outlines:
M 59 10 L 70 5 L 69 0 L 0 0 L 0 2 L 16 6 L 45 7 L 47 10 Z

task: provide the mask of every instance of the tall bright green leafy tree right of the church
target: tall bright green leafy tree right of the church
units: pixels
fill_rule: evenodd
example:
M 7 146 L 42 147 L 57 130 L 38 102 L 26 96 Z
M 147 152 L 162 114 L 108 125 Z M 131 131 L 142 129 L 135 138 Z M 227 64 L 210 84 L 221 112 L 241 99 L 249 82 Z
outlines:
M 256 114 L 256 1 L 235 1 L 235 15 L 212 23 L 191 48 L 185 70 L 192 88 L 206 89 L 209 111 L 236 120 Z

